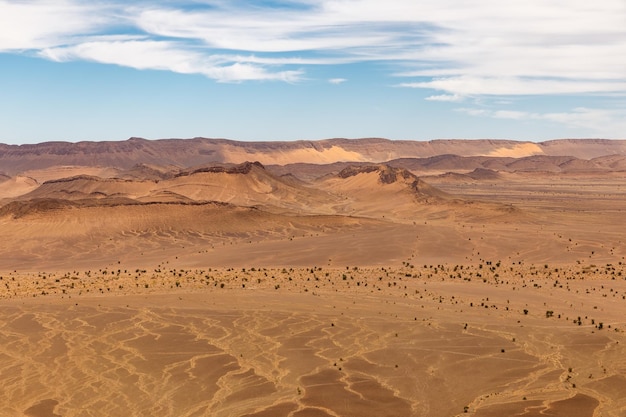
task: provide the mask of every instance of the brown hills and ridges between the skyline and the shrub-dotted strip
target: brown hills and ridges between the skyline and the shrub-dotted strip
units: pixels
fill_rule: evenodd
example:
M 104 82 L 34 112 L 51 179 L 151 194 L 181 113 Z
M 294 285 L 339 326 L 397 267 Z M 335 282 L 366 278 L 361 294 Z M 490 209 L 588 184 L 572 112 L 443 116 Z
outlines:
M 0 268 L 622 256 L 625 177 L 620 140 L 0 145 Z

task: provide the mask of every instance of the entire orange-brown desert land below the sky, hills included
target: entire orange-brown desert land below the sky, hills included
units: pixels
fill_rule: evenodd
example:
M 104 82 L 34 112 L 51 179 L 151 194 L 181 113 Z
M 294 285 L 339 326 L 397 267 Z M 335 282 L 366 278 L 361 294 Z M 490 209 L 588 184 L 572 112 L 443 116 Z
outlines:
M 0 164 L 2 416 L 626 415 L 624 141 Z

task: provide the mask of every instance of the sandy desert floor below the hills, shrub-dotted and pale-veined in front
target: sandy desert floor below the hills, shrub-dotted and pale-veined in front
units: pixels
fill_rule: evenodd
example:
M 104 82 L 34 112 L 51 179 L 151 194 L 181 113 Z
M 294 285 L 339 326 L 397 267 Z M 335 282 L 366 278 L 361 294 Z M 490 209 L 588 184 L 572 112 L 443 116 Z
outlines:
M 0 415 L 626 415 L 623 178 L 533 175 L 337 224 L 5 221 Z

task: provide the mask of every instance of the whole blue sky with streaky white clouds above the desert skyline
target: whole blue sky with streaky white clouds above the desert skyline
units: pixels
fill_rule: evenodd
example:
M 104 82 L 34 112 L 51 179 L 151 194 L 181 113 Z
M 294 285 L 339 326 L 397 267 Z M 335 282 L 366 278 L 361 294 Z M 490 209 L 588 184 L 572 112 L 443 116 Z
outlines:
M 626 139 L 626 0 L 0 0 L 0 143 Z

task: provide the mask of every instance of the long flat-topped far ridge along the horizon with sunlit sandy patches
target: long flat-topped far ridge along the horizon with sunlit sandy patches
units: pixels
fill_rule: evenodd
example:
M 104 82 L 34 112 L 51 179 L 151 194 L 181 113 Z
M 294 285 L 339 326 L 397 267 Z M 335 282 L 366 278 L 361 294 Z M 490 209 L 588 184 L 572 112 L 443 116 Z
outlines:
M 380 138 L 326 139 L 293 142 L 241 142 L 226 139 L 130 138 L 119 142 L 44 142 L 0 144 L 0 173 L 14 176 L 55 166 L 131 169 L 141 166 L 188 168 L 215 163 L 259 161 L 264 165 L 335 162 L 386 162 L 400 158 L 460 157 L 523 158 L 569 156 L 589 160 L 626 155 L 626 140 L 560 139 L 547 142 L 514 140 L 408 141 Z M 476 167 L 474 167 L 476 168 Z

